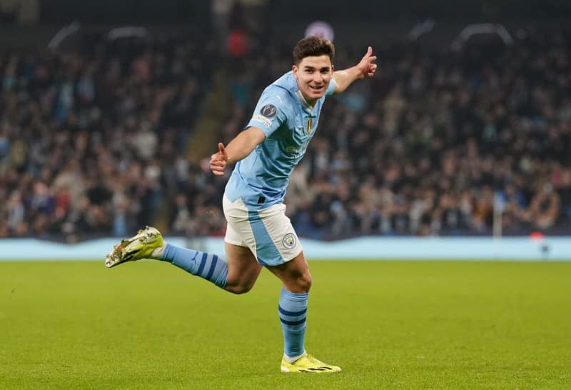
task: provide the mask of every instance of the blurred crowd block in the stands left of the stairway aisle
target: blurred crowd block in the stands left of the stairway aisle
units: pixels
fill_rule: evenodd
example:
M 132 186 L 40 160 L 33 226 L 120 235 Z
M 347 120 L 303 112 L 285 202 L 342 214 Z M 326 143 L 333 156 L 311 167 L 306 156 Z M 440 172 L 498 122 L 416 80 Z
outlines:
M 0 54 L 0 237 L 130 235 L 187 179 L 214 45 L 91 40 Z

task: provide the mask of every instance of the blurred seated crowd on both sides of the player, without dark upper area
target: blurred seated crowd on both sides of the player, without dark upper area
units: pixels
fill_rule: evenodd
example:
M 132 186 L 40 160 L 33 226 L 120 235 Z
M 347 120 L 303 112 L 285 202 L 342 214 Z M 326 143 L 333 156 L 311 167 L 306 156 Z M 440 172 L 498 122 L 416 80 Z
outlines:
M 570 46 L 552 31 L 457 50 L 373 42 L 378 76 L 328 99 L 290 179 L 298 234 L 568 234 Z M 0 237 L 125 236 L 161 216 L 168 234 L 222 234 L 227 177 L 186 158 L 214 47 L 194 37 L 1 54 Z M 228 61 L 221 141 L 290 69 L 290 49 Z M 338 46 L 335 66 L 365 49 Z

